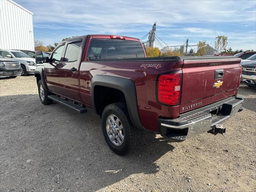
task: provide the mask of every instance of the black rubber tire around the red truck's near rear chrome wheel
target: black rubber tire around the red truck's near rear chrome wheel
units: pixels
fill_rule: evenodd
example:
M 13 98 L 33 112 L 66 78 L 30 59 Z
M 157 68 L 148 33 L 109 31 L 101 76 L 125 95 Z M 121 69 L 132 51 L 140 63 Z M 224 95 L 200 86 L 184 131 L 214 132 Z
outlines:
M 120 146 L 116 146 L 112 143 L 106 130 L 106 121 L 111 114 L 114 114 L 117 118 L 119 118 L 123 127 L 122 130 L 124 132 L 124 139 Z M 114 153 L 120 156 L 131 153 L 140 145 L 142 132 L 134 128 L 128 114 L 126 103 L 124 102 L 113 103 L 104 108 L 102 112 L 101 126 L 103 136 L 108 146 Z

